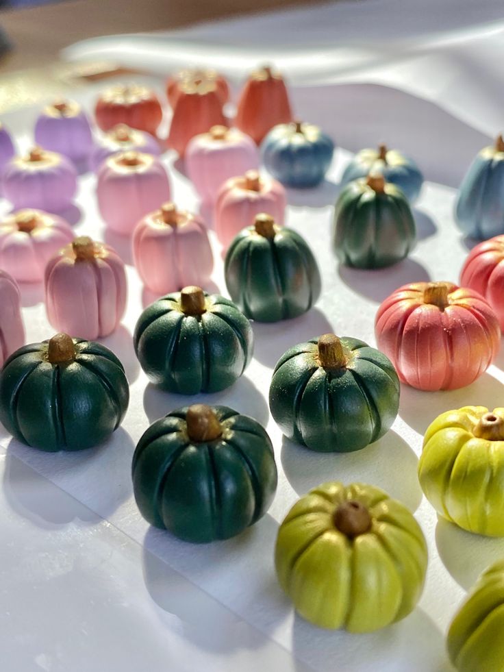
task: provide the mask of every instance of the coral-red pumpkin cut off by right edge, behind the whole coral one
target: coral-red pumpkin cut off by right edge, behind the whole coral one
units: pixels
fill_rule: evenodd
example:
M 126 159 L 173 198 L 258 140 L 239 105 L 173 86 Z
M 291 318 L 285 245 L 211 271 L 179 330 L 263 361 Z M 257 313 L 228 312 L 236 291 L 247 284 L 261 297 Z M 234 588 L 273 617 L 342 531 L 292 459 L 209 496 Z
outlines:
M 472 248 L 460 274 L 460 284 L 486 298 L 504 332 L 504 236 L 484 240 Z

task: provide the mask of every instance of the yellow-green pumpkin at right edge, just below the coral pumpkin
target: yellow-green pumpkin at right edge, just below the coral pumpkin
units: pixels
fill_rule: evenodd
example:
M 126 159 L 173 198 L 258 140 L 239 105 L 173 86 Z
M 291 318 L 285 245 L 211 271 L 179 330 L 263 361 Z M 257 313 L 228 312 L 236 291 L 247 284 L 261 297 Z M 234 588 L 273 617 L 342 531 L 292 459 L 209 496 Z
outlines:
M 468 532 L 504 536 L 504 408 L 438 416 L 425 432 L 418 478 L 440 516 Z

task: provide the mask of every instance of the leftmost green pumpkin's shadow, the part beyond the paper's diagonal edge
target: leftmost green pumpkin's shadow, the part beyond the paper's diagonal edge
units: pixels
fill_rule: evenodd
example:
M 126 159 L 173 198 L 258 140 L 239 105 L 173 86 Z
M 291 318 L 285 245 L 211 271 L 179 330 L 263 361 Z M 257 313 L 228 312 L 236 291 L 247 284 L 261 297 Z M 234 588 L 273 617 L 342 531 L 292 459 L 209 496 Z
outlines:
M 9 506 L 37 527 L 53 530 L 75 519 L 98 523 L 101 517 L 40 475 L 12 453 L 5 456 L 3 493 Z

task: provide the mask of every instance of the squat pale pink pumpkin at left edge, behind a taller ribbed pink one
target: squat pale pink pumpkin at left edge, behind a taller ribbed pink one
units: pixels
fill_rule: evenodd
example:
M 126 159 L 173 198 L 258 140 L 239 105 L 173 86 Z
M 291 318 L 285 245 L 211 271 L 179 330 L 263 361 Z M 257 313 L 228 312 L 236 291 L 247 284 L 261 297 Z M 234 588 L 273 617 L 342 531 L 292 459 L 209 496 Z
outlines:
M 18 210 L 0 222 L 0 269 L 18 282 L 42 282 L 49 259 L 73 237 L 62 217 Z

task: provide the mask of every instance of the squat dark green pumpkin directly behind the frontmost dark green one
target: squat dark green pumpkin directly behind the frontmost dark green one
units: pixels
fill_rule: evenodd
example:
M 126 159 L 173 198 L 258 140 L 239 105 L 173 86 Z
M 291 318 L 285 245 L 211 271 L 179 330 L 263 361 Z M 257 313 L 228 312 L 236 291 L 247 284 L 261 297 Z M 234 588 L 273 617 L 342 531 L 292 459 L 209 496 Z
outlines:
M 253 333 L 232 301 L 186 287 L 142 312 L 134 347 L 153 383 L 195 395 L 224 390 L 242 375 L 252 358 Z

